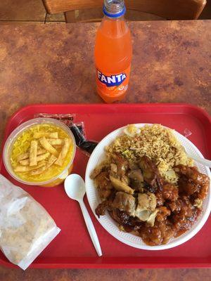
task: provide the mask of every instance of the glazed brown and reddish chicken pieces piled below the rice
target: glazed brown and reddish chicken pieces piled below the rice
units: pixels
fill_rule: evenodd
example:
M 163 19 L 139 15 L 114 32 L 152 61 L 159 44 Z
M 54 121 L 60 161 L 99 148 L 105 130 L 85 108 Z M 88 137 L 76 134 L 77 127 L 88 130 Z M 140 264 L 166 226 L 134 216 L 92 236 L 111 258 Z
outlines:
M 127 136 L 127 141 L 138 135 L 141 138 L 141 132 Z M 201 213 L 210 178 L 188 166 L 192 162 L 186 159 L 186 164 L 174 161 L 170 169 L 175 176 L 170 181 L 158 169 L 159 151 L 151 157 L 147 152 L 136 153 L 132 159 L 124 151 L 107 153 L 105 162 L 91 174 L 102 200 L 96 215 L 108 211 L 120 230 L 140 236 L 151 246 L 166 244 L 189 230 Z

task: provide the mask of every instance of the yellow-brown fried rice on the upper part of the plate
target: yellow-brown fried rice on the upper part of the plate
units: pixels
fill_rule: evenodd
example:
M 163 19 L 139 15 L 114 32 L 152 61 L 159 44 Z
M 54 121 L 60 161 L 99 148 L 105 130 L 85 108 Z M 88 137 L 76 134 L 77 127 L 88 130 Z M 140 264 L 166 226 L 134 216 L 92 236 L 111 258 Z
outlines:
M 106 147 L 108 158 L 115 153 L 129 162 L 138 162 L 143 155 L 148 156 L 158 166 L 160 174 L 171 183 L 177 183 L 174 166 L 193 166 L 193 159 L 187 157 L 174 131 L 160 124 L 145 125 L 140 129 L 128 125 L 124 133 Z

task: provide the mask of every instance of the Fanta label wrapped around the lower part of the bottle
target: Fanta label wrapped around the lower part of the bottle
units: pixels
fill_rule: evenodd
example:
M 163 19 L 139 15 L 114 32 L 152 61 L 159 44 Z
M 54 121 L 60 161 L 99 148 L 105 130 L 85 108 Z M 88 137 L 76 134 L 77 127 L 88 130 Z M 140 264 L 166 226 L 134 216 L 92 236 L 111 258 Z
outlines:
M 96 84 L 99 92 L 106 96 L 120 96 L 127 91 L 130 66 L 117 74 L 104 73 L 96 69 Z

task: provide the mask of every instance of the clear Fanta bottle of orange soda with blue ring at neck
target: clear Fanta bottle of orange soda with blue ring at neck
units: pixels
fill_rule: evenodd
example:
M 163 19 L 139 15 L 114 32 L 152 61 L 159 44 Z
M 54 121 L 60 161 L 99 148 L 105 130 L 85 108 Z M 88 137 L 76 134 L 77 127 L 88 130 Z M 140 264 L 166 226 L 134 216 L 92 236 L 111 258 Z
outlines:
M 125 11 L 124 0 L 104 0 L 104 18 L 96 34 L 96 89 L 106 103 L 122 100 L 129 84 L 132 40 Z

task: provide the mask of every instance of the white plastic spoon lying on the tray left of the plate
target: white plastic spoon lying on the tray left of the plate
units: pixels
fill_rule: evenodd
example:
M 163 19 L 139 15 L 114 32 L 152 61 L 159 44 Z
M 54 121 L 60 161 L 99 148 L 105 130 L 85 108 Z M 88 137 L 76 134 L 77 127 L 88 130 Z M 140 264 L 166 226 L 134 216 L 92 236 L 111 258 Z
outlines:
M 94 244 L 98 256 L 102 256 L 101 246 L 98 240 L 98 236 L 96 234 L 96 230 L 94 229 L 94 225 L 91 221 L 91 218 L 83 201 L 84 194 L 86 192 L 83 178 L 77 174 L 71 174 L 70 176 L 68 176 L 65 179 L 65 191 L 68 197 L 79 202 L 79 205 L 82 209 L 82 214 L 84 216 L 84 221 L 87 225 L 87 229 L 91 237 L 91 241 Z

